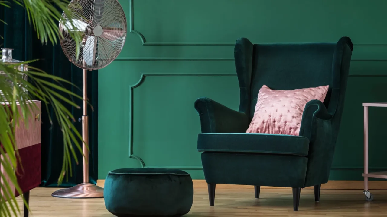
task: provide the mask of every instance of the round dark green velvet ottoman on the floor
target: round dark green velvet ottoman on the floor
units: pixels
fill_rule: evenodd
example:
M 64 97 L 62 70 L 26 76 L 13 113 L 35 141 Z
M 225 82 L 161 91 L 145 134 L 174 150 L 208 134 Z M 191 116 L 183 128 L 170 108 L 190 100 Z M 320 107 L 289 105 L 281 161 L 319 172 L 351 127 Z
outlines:
M 191 176 L 182 170 L 118 169 L 106 176 L 105 206 L 118 217 L 182 216 L 192 207 Z

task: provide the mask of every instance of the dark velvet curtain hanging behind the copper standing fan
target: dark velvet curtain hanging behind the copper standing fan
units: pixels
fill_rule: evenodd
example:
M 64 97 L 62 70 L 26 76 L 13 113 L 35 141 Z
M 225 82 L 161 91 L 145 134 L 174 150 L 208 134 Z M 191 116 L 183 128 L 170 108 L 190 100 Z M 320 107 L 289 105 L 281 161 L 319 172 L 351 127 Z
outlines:
M 53 45 L 50 42 L 43 45 L 33 27 L 29 24 L 25 10 L 11 2 L 11 8 L 0 5 L 0 19 L 7 24 L 0 22 L 0 47 L 14 48 L 13 58 L 21 61 L 39 59 L 32 66 L 44 70 L 52 75 L 59 76 L 71 81 L 76 88 L 71 85 L 62 84 L 72 92 L 82 96 L 82 69 L 71 64 L 63 54 L 60 44 Z M 89 71 L 87 79 L 88 98 L 94 110 L 88 108 L 89 115 L 89 179 L 91 183 L 96 183 L 98 177 L 98 73 Z M 77 105 L 82 106 L 82 100 L 73 99 Z M 66 103 L 63 103 L 66 105 Z M 82 117 L 82 109 L 76 109 L 69 105 L 67 108 L 78 120 Z M 49 114 L 48 114 L 49 113 Z M 49 115 L 53 120 L 50 124 Z M 58 122 L 53 114 L 52 107 L 48 105 L 48 110 L 42 102 L 42 186 L 57 187 L 58 177 L 63 164 L 63 136 Z M 75 122 L 77 130 L 82 133 L 82 124 Z M 81 142 L 81 141 L 79 141 Z M 82 183 L 82 154 L 77 151 L 79 164 L 72 160 L 72 176 L 68 176 L 60 187 L 70 187 Z

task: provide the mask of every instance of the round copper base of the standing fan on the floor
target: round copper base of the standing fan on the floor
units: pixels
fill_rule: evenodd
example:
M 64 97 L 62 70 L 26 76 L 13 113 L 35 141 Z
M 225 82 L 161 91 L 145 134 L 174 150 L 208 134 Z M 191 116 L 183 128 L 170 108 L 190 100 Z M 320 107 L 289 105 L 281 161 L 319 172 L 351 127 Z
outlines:
M 91 183 L 82 183 L 71 188 L 62 188 L 51 194 L 61 198 L 101 198 L 103 188 Z

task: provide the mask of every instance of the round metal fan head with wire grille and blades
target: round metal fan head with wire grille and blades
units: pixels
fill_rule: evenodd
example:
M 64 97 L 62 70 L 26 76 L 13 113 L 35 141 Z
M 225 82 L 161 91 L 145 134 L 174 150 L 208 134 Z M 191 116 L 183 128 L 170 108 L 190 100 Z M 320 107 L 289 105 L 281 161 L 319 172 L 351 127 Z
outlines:
M 127 22 L 117 0 L 72 0 L 59 22 L 60 45 L 70 62 L 82 69 L 97 70 L 110 64 L 125 44 Z M 72 22 L 70 21 L 72 20 Z M 82 34 L 77 44 L 71 31 Z M 79 47 L 79 56 L 76 48 Z

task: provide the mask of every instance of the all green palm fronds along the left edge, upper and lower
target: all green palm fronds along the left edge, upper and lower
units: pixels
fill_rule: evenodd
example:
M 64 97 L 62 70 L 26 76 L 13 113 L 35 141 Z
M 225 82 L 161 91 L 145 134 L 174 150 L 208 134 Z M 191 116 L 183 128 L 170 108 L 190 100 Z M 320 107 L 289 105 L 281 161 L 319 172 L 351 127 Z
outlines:
M 25 8 L 29 23 L 36 31 L 42 44 L 47 44 L 48 42 L 56 44 L 58 38 L 63 37 L 58 31 L 57 24 L 62 18 L 62 12 L 67 17 L 73 16 L 73 12 L 67 8 L 67 0 L 13 0 L 13 2 L 16 3 L 16 7 Z M 10 2 L 4 0 L 0 0 L 0 5 L 11 7 Z M 5 23 L 3 20 L 0 20 L 0 22 Z M 82 39 L 80 32 L 71 31 L 69 34 L 75 43 L 80 44 Z M 0 36 L 0 38 L 2 37 Z M 79 53 L 79 47 L 77 47 L 77 57 Z M 36 60 L 28 62 L 33 61 Z M 74 103 L 72 99 L 74 97 L 83 98 L 62 85 L 62 83 L 73 85 L 70 81 L 47 74 L 37 68 L 29 68 L 32 71 L 23 72 L 27 74 L 29 81 L 24 81 L 21 79 L 19 71 L 9 65 L 0 63 L 0 71 L 4 72 L 0 74 L 0 90 L 2 92 L 0 101 L 7 102 L 0 105 L 0 165 L 2 168 L 0 171 L 0 179 L 2 180 L 0 182 L 0 192 L 2 192 L 0 193 L 0 216 L 4 217 L 16 216 L 20 213 L 20 207 L 15 200 L 15 195 L 9 193 L 11 192 L 10 186 L 14 185 L 17 193 L 23 193 L 15 175 L 15 168 L 21 164 L 20 159 L 17 158 L 18 150 L 15 148 L 15 137 L 12 132 L 14 132 L 18 124 L 25 124 L 28 127 L 28 117 L 32 115 L 31 110 L 36 109 L 34 103 L 21 103 L 18 105 L 17 102 L 26 102 L 26 100 L 33 99 L 40 100 L 45 103 L 46 112 L 50 111 L 48 110 L 48 104 L 52 106 L 52 112 L 55 114 L 63 134 L 63 166 L 61 175 L 58 177 L 58 183 L 62 183 L 65 177 L 72 175 L 71 159 L 74 158 L 76 163 L 78 163 L 76 151 L 83 154 L 82 142 L 79 142 L 82 141 L 82 135 L 75 129 L 73 124 L 75 118 L 65 106 L 70 105 L 79 109 L 80 106 Z M 47 79 L 50 79 L 51 82 L 48 82 Z M 11 86 L 9 81 L 15 84 L 22 83 L 22 86 Z M 75 86 L 75 88 L 78 87 Z M 27 90 L 27 92 L 24 90 Z M 48 117 L 52 124 L 51 115 L 48 115 Z M 21 122 L 20 120 L 24 121 Z M 5 176 L 8 177 L 10 182 L 5 179 Z M 24 198 L 23 201 L 26 204 Z

